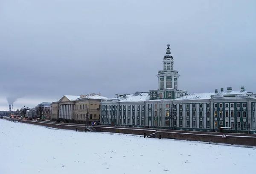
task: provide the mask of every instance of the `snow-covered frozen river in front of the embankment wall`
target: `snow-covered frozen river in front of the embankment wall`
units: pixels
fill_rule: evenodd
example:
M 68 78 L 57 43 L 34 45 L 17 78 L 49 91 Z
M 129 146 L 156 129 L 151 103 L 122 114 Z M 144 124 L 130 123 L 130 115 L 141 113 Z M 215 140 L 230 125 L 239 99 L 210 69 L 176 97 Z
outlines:
M 255 174 L 256 149 L 0 119 L 0 174 Z

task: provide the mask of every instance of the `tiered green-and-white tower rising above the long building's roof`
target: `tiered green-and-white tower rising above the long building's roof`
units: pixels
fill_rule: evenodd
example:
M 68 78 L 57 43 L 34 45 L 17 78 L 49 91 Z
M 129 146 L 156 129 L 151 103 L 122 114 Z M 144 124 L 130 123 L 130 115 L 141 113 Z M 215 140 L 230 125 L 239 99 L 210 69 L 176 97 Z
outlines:
M 187 91 L 178 90 L 179 74 L 173 69 L 173 57 L 170 45 L 167 45 L 166 54 L 163 56 L 163 70 L 159 70 L 157 90 L 150 90 L 150 99 L 175 99 L 187 94 Z

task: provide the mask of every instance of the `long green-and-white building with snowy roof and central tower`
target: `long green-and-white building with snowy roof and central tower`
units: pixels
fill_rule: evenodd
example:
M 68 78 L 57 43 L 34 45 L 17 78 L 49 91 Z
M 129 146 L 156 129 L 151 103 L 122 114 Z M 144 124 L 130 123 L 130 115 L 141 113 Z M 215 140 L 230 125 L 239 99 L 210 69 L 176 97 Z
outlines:
M 212 93 L 178 90 L 178 71 L 169 44 L 158 71 L 158 89 L 149 93 L 116 95 L 102 101 L 101 124 L 155 127 L 187 131 L 256 133 L 256 94 L 244 87 Z

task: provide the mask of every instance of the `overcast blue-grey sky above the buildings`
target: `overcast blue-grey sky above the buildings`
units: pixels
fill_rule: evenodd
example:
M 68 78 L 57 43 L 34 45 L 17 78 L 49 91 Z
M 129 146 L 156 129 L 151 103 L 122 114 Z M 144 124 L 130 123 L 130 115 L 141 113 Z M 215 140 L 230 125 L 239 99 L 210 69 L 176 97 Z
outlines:
M 0 110 L 157 89 L 168 43 L 179 89 L 256 92 L 255 31 L 255 0 L 1 0 Z

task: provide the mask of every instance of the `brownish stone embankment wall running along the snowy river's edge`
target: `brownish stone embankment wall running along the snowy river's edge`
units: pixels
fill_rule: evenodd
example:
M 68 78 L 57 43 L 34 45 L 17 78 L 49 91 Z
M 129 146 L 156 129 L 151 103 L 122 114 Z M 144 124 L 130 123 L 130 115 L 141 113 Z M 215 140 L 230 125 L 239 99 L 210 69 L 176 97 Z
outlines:
M 5 118 L 9 121 L 14 119 Z M 30 121 L 30 120 L 17 120 L 20 123 L 29 123 L 39 126 L 47 126 L 57 129 L 68 129 L 85 131 L 86 125 L 81 124 L 60 124 L 47 121 Z M 193 140 L 193 141 L 204 141 L 212 143 L 227 143 L 237 144 L 245 146 L 256 146 L 256 135 L 255 134 L 236 134 L 236 133 L 218 133 L 218 132 L 194 132 L 194 131 L 179 131 L 179 130 L 166 130 L 166 129 L 152 129 L 152 128 L 135 128 L 135 127 L 123 127 L 123 126 L 102 126 L 93 125 L 97 132 L 113 132 L 133 135 L 144 135 L 148 136 L 152 133 L 156 133 L 156 138 L 172 138 L 179 140 Z M 223 137 L 222 135 L 225 135 Z

